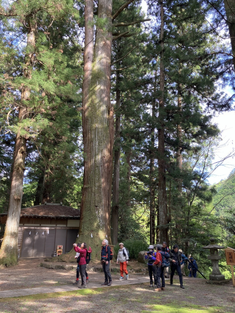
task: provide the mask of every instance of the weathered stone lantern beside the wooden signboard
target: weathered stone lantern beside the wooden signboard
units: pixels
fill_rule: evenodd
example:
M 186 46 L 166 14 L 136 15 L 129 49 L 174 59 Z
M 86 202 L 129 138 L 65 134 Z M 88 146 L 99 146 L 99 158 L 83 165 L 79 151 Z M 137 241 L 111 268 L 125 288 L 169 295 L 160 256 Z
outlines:
M 210 239 L 211 244 L 208 244 L 204 249 L 210 249 L 210 255 L 207 256 L 207 259 L 212 261 L 212 274 L 209 276 L 210 280 L 225 280 L 224 275 L 221 274 L 219 269 L 219 260 L 222 259 L 222 256 L 219 255 L 218 249 L 224 249 L 222 246 L 215 244 L 215 239 Z

